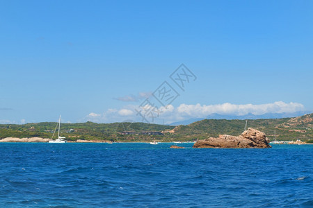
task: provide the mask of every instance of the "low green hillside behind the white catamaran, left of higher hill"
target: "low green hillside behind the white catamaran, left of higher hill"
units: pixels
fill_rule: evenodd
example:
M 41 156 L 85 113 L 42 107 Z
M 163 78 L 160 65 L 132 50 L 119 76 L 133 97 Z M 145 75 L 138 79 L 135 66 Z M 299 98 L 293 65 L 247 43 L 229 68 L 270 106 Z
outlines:
M 44 137 L 51 138 L 56 128 L 55 122 L 26 123 L 23 125 L 0 125 L 0 139 L 6 137 Z M 67 140 L 111 140 L 140 141 L 153 139 L 155 135 L 144 135 L 149 132 L 171 130 L 175 126 L 151 123 L 62 123 L 61 135 Z M 134 135 L 123 135 L 123 132 L 134 132 Z

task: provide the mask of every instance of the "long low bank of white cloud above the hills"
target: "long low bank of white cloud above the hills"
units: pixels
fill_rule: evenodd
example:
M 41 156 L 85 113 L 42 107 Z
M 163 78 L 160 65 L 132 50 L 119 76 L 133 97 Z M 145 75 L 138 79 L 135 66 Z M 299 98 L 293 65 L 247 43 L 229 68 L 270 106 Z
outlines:
M 122 122 L 127 120 L 143 121 L 143 118 L 136 113 L 136 110 L 143 112 L 152 110 L 153 107 L 145 105 L 127 105 L 120 109 L 109 109 L 102 114 L 91 112 L 83 121 L 93 121 L 98 123 Z M 278 101 L 275 103 L 265 103 L 260 105 L 223 103 L 218 105 L 187 105 L 181 104 L 178 107 L 173 105 L 159 107 L 159 117 L 154 119 L 155 123 L 172 123 L 175 121 L 184 121 L 191 118 L 206 118 L 210 114 L 236 115 L 244 116 L 246 114 L 262 115 L 266 113 L 293 113 L 305 110 L 300 103 L 284 103 Z

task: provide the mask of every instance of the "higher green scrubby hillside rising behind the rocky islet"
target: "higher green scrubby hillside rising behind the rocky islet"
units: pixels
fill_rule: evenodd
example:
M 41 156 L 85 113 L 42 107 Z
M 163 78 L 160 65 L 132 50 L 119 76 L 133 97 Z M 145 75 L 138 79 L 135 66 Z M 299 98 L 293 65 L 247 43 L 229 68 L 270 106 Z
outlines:
M 204 119 L 189 125 L 179 125 L 175 135 L 182 137 L 218 137 L 218 135 L 240 135 L 246 125 L 244 120 Z M 313 138 L 313 114 L 296 118 L 248 120 L 248 128 L 266 133 L 269 139 L 288 141 Z

